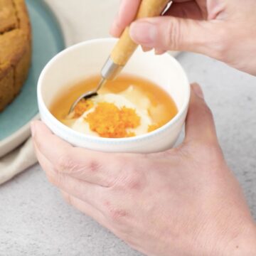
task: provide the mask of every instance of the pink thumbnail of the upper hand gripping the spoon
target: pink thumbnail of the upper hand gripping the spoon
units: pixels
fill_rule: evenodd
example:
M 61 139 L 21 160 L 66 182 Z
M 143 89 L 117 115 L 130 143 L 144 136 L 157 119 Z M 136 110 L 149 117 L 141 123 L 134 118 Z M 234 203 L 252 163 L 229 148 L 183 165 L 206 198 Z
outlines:
M 130 36 L 132 39 L 146 47 L 153 47 L 156 41 L 156 26 L 147 21 L 137 21 L 130 27 Z

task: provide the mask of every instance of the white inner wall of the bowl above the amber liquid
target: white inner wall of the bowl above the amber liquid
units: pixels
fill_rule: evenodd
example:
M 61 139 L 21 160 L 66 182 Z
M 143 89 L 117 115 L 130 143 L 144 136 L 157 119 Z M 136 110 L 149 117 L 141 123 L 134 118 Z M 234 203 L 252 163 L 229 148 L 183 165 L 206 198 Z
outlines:
M 56 96 L 75 83 L 100 75 L 100 70 L 116 43 L 115 39 L 102 39 L 82 43 L 64 50 L 48 63 L 41 75 L 41 96 L 46 107 L 50 107 Z M 138 48 L 123 73 L 138 75 L 155 82 L 176 102 L 178 110 L 189 97 L 188 80 L 181 66 L 168 53 L 154 55 Z

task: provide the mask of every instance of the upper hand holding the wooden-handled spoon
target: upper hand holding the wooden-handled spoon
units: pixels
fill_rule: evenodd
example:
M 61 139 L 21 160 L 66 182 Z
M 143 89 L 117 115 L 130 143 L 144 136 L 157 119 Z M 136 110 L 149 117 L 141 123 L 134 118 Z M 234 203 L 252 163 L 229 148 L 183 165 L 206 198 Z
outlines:
M 122 0 L 111 29 L 119 37 L 142 0 Z M 132 39 L 145 49 L 187 50 L 256 75 L 255 0 L 176 0 L 164 17 L 132 23 Z

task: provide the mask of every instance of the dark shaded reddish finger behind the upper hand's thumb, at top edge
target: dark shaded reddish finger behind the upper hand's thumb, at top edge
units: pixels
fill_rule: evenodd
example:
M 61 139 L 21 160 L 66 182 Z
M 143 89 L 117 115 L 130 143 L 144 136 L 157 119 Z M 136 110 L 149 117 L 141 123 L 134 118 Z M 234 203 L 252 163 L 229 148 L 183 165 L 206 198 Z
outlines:
M 178 18 L 191 18 L 196 20 L 206 18 L 196 1 L 186 1 L 183 3 L 174 2 L 174 4 L 171 5 L 170 9 L 166 11 L 165 15 Z

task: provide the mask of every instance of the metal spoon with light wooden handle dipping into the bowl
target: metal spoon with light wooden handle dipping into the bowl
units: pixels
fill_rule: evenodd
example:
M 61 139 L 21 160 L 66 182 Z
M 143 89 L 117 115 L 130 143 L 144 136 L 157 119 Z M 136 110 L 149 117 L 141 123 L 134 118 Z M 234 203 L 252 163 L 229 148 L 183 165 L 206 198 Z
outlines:
M 139 11 L 135 20 L 161 15 L 169 2 L 170 0 L 142 0 L 142 4 L 139 6 Z M 114 46 L 110 57 L 102 68 L 102 79 L 99 85 L 95 90 L 81 95 L 70 107 L 70 113 L 73 112 L 75 106 L 80 102 L 80 100 L 87 100 L 90 97 L 97 96 L 97 92 L 103 85 L 105 85 L 107 80 L 114 80 L 114 78 L 116 78 L 121 72 L 122 68 L 124 68 L 124 65 L 126 65 L 129 58 L 131 58 L 132 54 L 137 49 L 137 46 L 138 45 L 134 43 L 132 38 L 129 36 L 129 27 L 125 28 L 116 46 Z

